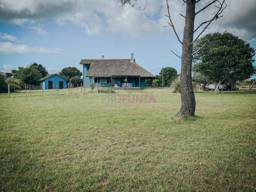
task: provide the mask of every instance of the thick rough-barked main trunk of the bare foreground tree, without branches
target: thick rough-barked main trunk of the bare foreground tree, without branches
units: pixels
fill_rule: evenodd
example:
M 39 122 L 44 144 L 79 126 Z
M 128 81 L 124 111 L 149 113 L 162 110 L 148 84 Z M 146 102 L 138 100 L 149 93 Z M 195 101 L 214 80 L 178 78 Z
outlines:
M 176 114 L 176 117 L 183 115 L 195 115 L 196 99 L 192 87 L 191 68 L 192 68 L 192 53 L 193 53 L 193 34 L 195 22 L 196 0 L 186 1 L 186 18 L 183 33 L 182 56 L 181 56 L 181 109 Z

